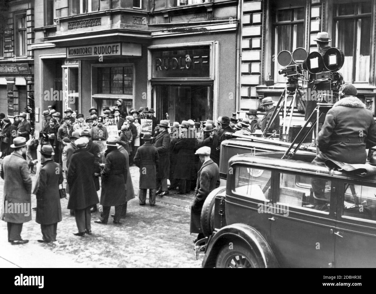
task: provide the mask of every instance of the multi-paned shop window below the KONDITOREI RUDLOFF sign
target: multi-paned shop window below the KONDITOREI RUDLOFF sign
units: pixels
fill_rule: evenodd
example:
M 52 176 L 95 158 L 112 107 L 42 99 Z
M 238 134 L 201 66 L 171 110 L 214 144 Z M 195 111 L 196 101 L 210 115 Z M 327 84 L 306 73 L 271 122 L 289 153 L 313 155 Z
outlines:
M 133 67 L 99 67 L 97 93 L 133 94 Z

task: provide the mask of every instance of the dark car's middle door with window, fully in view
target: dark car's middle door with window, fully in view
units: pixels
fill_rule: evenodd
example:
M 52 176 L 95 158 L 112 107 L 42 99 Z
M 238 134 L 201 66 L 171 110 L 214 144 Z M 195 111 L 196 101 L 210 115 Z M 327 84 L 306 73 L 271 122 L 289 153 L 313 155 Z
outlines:
M 280 172 L 270 214 L 272 250 L 281 267 L 332 267 L 334 187 L 328 176 Z M 314 199 L 317 182 L 321 198 Z M 312 188 L 313 187 L 313 188 Z M 316 191 L 316 192 L 315 192 Z M 318 197 L 317 197 L 318 198 Z M 279 208 L 279 209 L 278 209 Z

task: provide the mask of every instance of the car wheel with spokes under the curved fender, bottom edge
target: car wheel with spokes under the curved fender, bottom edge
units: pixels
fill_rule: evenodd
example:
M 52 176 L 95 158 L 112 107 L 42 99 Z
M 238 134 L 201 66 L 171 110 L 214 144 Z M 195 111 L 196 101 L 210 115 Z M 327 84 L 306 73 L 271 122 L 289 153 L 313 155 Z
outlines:
M 216 268 L 261 268 L 261 264 L 249 247 L 242 244 L 223 246 L 217 256 Z

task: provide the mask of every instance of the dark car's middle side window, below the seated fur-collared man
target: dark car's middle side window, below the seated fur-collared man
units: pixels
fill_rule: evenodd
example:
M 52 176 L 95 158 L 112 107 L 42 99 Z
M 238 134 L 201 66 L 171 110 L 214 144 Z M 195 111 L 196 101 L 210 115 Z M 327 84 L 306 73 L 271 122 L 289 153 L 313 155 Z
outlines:
M 280 173 L 277 203 L 329 214 L 331 181 Z

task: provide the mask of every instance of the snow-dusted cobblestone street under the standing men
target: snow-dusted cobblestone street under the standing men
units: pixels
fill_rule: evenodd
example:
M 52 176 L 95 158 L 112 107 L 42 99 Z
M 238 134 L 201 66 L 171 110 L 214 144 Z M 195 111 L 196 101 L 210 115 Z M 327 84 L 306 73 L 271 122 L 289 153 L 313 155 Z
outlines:
M 131 167 L 135 193 L 138 193 L 138 168 Z M 35 181 L 35 175 L 32 175 Z M 0 199 L 3 199 L 3 180 L 0 179 Z M 98 191 L 100 196 L 100 191 Z M 3 200 L 2 200 L 3 201 Z M 92 235 L 76 237 L 74 217 L 62 199 L 62 222 L 58 223 L 58 241 L 38 243 L 40 225 L 33 220 L 24 223 L 22 238 L 29 243 L 11 246 L 7 242 L 5 222 L 0 222 L 0 267 L 200 267 L 202 256 L 196 260 L 190 235 L 188 208 L 157 202 L 150 207 L 138 205 L 138 198 L 128 203 L 127 217 L 114 225 L 94 223 L 99 212 L 91 214 Z M 32 195 L 32 207 L 36 207 Z M 112 207 L 111 213 L 114 213 Z

